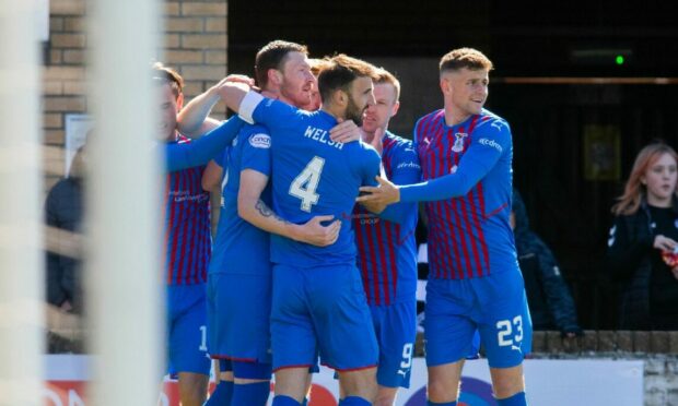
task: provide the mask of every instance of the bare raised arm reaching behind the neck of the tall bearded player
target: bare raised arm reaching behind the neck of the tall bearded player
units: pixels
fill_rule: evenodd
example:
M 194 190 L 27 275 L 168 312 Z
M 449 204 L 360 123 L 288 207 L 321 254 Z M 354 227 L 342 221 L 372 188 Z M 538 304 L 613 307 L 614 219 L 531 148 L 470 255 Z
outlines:
M 247 83 L 252 84 L 252 79 L 243 75 L 229 75 L 210 87 L 207 92 L 199 94 L 190 100 L 177 116 L 177 130 L 191 139 L 212 131 L 221 121 L 208 117 L 212 108 L 220 100 L 219 89 L 226 83 Z

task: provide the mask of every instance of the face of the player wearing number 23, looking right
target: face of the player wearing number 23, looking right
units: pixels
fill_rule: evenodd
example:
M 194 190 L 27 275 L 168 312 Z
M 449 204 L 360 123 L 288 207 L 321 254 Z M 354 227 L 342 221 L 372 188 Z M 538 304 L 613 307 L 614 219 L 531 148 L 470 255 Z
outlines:
M 446 109 L 452 109 L 453 124 L 481 112 L 482 106 L 488 99 L 489 83 L 489 71 L 487 69 L 461 68 L 441 74 L 441 89 L 445 98 Z

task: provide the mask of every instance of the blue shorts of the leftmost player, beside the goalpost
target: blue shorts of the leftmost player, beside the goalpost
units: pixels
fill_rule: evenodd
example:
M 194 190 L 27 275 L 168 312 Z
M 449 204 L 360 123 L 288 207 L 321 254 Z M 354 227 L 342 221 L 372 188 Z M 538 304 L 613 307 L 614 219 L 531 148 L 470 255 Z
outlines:
M 171 375 L 210 374 L 204 284 L 167 286 L 167 358 Z

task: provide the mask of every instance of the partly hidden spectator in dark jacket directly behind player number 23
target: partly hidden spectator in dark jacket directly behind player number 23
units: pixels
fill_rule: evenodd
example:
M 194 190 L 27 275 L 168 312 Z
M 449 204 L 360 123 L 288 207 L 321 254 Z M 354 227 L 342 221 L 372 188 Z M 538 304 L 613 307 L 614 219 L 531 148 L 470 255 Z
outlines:
M 560 273 L 558 262 L 549 247 L 529 229 L 525 204 L 515 189 L 511 220 L 533 327 L 557 329 L 565 337 L 581 335 L 582 329 L 576 320 L 574 301 Z

